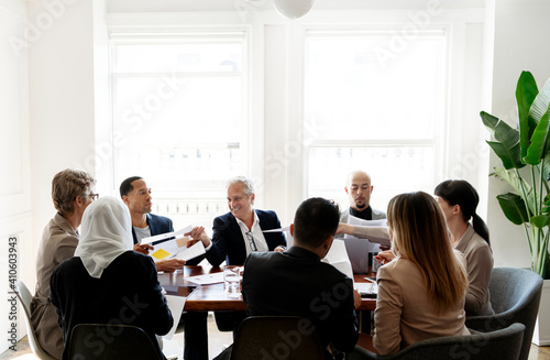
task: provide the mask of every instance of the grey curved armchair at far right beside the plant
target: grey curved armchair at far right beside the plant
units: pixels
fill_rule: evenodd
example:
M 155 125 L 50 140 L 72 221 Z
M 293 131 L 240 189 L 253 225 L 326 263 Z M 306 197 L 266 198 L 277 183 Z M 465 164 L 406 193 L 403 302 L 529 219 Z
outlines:
M 542 293 L 539 274 L 517 268 L 494 268 L 491 274 L 491 305 L 495 315 L 471 316 L 466 326 L 480 331 L 505 328 L 514 323 L 525 325 L 519 360 L 527 360 Z

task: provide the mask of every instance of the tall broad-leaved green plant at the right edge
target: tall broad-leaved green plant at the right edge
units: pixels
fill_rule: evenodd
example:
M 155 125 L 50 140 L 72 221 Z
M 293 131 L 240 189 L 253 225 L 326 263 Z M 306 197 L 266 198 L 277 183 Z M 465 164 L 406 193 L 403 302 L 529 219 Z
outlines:
M 495 175 L 515 193 L 497 196 L 504 215 L 522 225 L 531 255 L 531 270 L 550 279 L 548 241 L 550 236 L 550 79 L 539 92 L 529 72 L 522 72 L 516 87 L 518 127 L 482 111 L 484 126 L 495 141 L 487 141 L 503 167 Z

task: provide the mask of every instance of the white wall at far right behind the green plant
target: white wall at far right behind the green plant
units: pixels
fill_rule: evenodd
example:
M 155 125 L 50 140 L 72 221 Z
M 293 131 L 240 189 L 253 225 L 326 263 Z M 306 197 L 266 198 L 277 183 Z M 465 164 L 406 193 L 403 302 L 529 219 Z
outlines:
M 544 0 L 497 0 L 487 2 L 494 17 L 493 69 L 490 89 L 491 108 L 483 110 L 517 123 L 515 91 L 521 70 L 529 70 L 539 88 L 550 77 L 550 2 Z M 491 156 L 491 168 L 502 163 Z M 530 266 L 522 227 L 512 225 L 502 214 L 496 195 L 510 188 L 503 182 L 488 182 L 488 217 L 495 265 Z

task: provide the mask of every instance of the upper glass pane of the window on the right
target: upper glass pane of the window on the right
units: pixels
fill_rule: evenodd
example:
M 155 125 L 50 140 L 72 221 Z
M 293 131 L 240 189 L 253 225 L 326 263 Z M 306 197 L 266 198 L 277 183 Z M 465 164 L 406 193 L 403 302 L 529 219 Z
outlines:
M 444 33 L 391 52 L 394 34 L 307 41 L 305 119 L 319 139 L 433 138 L 444 116 Z

